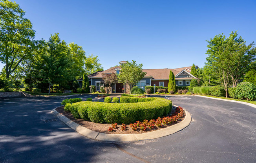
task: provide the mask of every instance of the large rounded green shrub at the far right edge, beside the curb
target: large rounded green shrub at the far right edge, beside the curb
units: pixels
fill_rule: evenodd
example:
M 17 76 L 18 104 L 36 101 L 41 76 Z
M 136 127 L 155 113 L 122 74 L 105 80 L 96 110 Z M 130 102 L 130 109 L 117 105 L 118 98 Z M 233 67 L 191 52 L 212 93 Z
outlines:
M 236 86 L 236 93 L 238 99 L 255 100 L 256 86 L 249 82 L 238 83 Z

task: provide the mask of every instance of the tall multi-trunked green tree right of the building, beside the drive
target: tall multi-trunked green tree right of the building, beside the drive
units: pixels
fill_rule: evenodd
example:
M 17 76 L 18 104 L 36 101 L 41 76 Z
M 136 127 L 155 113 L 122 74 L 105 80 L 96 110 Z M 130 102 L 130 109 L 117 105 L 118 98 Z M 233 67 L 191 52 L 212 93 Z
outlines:
M 232 32 L 229 38 L 223 34 L 207 40 L 208 57 L 206 65 L 212 67 L 219 76 L 221 85 L 226 91 L 230 82 L 236 87 L 244 74 L 248 71 L 249 64 L 255 59 L 253 43 L 248 46 L 241 37 L 237 38 L 237 32 Z

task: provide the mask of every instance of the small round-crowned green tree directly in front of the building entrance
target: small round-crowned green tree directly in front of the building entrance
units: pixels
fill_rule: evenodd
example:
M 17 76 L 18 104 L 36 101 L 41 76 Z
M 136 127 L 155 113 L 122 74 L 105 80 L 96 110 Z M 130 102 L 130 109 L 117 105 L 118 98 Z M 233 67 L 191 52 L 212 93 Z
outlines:
M 136 61 L 128 62 L 120 65 L 121 73 L 117 74 L 117 79 L 121 83 L 127 83 L 130 91 L 134 85 L 136 85 L 145 75 L 143 72 L 143 64 L 137 65 Z

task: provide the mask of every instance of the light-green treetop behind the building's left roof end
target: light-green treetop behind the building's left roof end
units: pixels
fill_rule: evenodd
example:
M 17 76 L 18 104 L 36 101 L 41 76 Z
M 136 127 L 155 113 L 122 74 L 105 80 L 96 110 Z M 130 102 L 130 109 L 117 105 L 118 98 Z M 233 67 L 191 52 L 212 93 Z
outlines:
M 91 54 L 86 57 L 84 61 L 84 72 L 89 75 L 98 71 L 103 71 L 103 67 L 101 66 L 101 63 L 99 63 L 98 56 L 93 56 L 93 54 Z

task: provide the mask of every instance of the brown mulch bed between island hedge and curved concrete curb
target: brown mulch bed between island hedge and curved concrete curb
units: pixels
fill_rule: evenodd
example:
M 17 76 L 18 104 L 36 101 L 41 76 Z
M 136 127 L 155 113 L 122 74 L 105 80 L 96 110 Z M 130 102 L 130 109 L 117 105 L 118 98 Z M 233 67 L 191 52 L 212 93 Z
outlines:
M 134 130 L 132 130 L 131 127 L 129 127 L 129 124 L 126 124 L 126 130 L 122 131 L 121 130 L 121 125 L 122 124 L 118 124 L 117 129 L 114 129 L 112 132 L 109 132 L 108 128 L 112 126 L 111 124 L 108 124 L 108 123 L 94 123 L 94 122 L 91 122 L 91 121 L 76 119 L 76 118 L 73 117 L 71 112 L 66 112 L 64 110 L 64 106 L 57 107 L 56 111 L 59 112 L 60 114 L 64 115 L 64 116 L 66 116 L 69 120 L 72 120 L 75 123 L 77 123 L 77 124 L 79 124 L 83 127 L 86 127 L 87 129 L 90 129 L 90 130 L 93 130 L 93 131 L 96 131 L 96 132 L 106 133 L 106 134 L 142 134 L 142 133 L 145 133 L 145 132 L 151 132 L 151 131 L 155 131 L 155 130 L 164 129 L 166 127 L 170 127 L 172 125 L 175 125 L 175 124 L 181 122 L 185 118 L 185 111 L 184 111 L 183 117 L 181 119 L 179 119 L 177 122 L 172 123 L 171 125 L 162 125 L 162 127 L 155 127 L 154 129 L 147 128 L 144 131 L 140 130 L 140 128 L 138 128 L 136 131 L 134 131 Z M 173 112 L 175 112 L 174 109 L 172 109 L 171 114 Z

